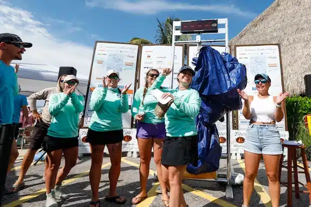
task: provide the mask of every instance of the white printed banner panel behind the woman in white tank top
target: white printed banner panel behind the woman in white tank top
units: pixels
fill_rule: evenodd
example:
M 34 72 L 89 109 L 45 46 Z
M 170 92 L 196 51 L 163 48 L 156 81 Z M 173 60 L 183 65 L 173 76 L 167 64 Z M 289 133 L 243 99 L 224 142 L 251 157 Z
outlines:
M 269 94 L 278 96 L 282 92 L 282 74 L 279 49 L 277 45 L 265 46 L 236 46 L 236 58 L 239 63 L 246 66 L 247 86 L 244 89 L 249 96 L 257 95 L 254 77 L 256 74 L 265 73 L 271 79 Z M 243 100 L 242 100 L 243 102 Z M 243 102 L 244 107 L 244 102 Z M 239 110 L 239 129 L 247 129 L 249 120 L 245 119 L 242 110 Z M 285 119 L 276 122 L 279 131 L 285 130 Z

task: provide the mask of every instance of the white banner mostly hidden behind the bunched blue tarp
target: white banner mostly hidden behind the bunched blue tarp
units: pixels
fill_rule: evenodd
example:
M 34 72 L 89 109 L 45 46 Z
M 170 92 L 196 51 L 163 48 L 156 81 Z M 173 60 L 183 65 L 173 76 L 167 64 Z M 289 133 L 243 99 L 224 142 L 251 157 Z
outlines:
M 217 50 L 220 54 L 222 52 L 226 52 L 225 51 L 225 46 L 211 46 L 213 49 Z M 189 66 L 194 70 L 195 66 L 191 63 L 192 59 L 195 57 L 198 57 L 198 50 L 197 50 L 197 46 L 190 46 L 189 47 Z M 218 130 L 226 130 L 227 128 L 227 122 L 226 122 L 226 114 L 224 115 L 225 121 L 221 122 L 221 121 L 217 121 L 215 124 L 217 126 Z M 230 128 L 232 128 L 232 112 L 230 112 Z

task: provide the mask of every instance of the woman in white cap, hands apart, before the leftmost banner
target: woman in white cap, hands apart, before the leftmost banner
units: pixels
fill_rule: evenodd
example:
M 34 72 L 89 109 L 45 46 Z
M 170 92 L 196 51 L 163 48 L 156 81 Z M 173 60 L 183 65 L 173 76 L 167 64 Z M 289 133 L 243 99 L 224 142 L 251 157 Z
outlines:
M 89 103 L 90 108 L 94 111 L 86 136 L 86 141 L 91 146 L 92 156 L 89 175 L 92 188 L 90 207 L 100 205 L 98 188 L 105 145 L 107 145 L 111 161 L 109 170 L 110 189 L 105 199 L 116 203 L 125 202 L 124 197 L 117 194 L 116 185 L 121 171 L 122 113 L 126 113 L 129 109 L 126 92 L 131 85 L 125 86 L 121 91 L 118 89 L 119 80 L 119 73 L 115 70 L 109 70 L 106 78 L 103 78 L 103 87 L 95 88 Z

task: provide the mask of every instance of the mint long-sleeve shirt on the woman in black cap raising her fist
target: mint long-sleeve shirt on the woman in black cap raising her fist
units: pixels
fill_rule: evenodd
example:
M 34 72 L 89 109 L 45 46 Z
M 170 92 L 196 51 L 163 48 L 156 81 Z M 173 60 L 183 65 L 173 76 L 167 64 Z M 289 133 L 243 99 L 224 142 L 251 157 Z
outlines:
M 150 90 L 160 88 L 166 77 L 160 75 L 151 85 Z M 199 114 L 201 98 L 198 91 L 189 88 L 180 91 L 178 89 L 161 89 L 170 92 L 175 100 L 165 114 L 165 127 L 167 136 L 181 137 L 197 134 L 195 118 Z

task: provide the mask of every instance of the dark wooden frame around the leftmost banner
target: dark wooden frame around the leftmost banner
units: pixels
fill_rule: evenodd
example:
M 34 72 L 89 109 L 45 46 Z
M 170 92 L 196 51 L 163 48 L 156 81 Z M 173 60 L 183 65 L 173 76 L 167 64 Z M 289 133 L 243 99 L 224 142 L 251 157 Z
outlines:
M 85 96 L 86 100 L 85 100 L 84 110 L 83 110 L 82 119 L 81 119 L 83 121 L 82 122 L 82 124 L 83 124 L 82 129 L 88 128 L 88 127 L 84 126 L 84 115 L 85 115 L 85 110 L 86 110 L 87 102 L 88 102 L 88 95 L 89 95 L 89 90 L 90 90 L 90 85 L 91 85 L 91 77 L 92 77 L 93 63 L 94 63 L 94 57 L 95 57 L 95 51 L 96 51 L 97 43 L 111 43 L 111 44 L 124 44 L 124 45 L 137 45 L 138 46 L 133 96 L 134 96 L 134 93 L 136 92 L 136 89 L 137 89 L 137 87 L 136 87 L 137 75 L 139 73 L 139 67 L 140 67 L 140 64 L 138 64 L 138 61 L 140 61 L 140 54 L 141 54 L 140 44 L 119 43 L 119 42 L 109 42 L 109 41 L 95 41 L 94 50 L 93 50 L 93 57 L 92 57 L 92 63 L 91 63 L 91 69 L 90 69 L 90 75 L 89 75 L 89 80 L 88 80 L 88 84 L 87 84 L 86 96 Z M 131 120 L 131 128 L 133 128 L 133 117 L 132 117 L 132 120 Z

